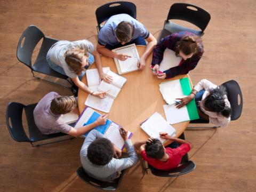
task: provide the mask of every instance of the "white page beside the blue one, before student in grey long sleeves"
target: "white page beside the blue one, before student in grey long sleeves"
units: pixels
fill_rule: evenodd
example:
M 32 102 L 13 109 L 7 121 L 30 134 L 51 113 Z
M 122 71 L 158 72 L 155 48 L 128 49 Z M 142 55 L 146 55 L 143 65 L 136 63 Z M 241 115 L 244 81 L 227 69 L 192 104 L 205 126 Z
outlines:
M 131 138 L 131 132 L 128 131 L 128 138 Z M 110 126 L 108 127 L 108 130 L 105 133 L 105 136 L 111 141 L 113 142 L 116 147 L 118 147 L 119 149 L 123 149 L 124 148 L 124 140 L 121 137 L 121 134 L 119 132 L 119 125 L 117 125 L 116 123 L 112 122 L 110 124 Z

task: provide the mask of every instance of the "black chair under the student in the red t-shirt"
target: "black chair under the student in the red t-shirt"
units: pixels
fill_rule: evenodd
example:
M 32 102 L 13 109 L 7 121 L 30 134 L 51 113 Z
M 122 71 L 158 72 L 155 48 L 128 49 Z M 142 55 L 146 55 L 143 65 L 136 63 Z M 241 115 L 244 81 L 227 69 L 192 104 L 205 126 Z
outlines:
M 185 134 L 182 133 L 179 138 L 185 140 Z M 196 168 L 195 163 L 193 161 L 188 160 L 188 154 L 182 157 L 181 164 L 178 167 L 170 171 L 158 170 L 153 166 L 149 165 L 146 161 L 144 160 L 142 161 L 143 161 L 143 165 L 145 167 L 146 173 L 148 173 L 147 169 L 149 169 L 151 173 L 156 175 L 157 177 L 179 177 L 180 175 L 187 174 Z

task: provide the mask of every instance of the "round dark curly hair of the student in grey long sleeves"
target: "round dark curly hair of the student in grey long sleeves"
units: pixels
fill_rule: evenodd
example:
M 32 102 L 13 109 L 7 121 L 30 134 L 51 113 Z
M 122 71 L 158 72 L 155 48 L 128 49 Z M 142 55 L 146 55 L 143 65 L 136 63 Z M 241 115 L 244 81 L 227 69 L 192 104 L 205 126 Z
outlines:
M 108 164 L 114 155 L 111 141 L 106 138 L 95 139 L 87 149 L 89 161 L 95 165 Z

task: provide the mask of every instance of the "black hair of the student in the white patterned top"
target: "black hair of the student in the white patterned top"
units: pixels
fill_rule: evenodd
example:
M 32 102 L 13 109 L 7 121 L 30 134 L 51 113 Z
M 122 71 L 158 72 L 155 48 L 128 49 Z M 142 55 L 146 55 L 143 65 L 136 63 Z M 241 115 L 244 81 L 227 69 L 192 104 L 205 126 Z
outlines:
M 206 110 L 221 113 L 225 117 L 230 117 L 231 108 L 226 106 L 224 96 L 227 95 L 225 86 L 218 86 L 210 91 L 210 94 L 204 99 Z

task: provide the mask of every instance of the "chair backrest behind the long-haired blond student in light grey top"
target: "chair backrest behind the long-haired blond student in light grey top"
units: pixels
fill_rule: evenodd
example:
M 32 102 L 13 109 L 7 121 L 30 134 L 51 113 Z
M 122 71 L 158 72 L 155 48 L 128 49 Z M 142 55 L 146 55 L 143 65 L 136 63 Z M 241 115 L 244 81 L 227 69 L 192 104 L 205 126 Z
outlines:
M 32 69 L 31 58 L 37 43 L 45 38 L 43 32 L 36 26 L 28 26 L 22 33 L 17 47 L 17 58 L 20 62 Z

